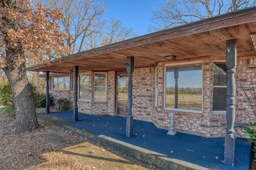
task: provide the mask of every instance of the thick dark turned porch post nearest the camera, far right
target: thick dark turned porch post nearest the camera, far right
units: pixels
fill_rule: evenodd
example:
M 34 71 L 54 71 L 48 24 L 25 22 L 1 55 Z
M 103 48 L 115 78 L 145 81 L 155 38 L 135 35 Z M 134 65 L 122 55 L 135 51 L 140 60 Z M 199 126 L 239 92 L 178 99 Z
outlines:
M 235 72 L 236 72 L 236 40 L 228 40 L 226 43 L 226 67 L 228 68 L 228 82 L 227 82 L 227 129 L 225 135 L 225 152 L 224 161 L 226 165 L 234 166 L 235 160 L 235 135 L 234 135 L 234 121 L 235 121 Z

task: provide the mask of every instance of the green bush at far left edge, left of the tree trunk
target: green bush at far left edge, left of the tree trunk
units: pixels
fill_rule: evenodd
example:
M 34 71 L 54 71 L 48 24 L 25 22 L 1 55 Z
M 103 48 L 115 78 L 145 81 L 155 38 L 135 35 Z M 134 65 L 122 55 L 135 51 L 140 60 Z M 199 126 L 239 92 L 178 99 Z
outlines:
M 12 96 L 11 86 L 7 81 L 0 85 L 0 104 L 4 106 L 1 111 L 10 117 L 15 117 L 14 99 Z

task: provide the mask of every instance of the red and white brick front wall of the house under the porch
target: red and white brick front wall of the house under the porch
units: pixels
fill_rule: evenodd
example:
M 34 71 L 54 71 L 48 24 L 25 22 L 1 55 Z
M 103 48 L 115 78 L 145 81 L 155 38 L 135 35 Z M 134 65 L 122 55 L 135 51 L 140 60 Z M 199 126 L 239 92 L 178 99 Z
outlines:
M 155 106 L 155 67 L 134 69 L 133 105 L 134 119 L 149 121 L 158 128 L 169 129 L 170 112 L 174 112 L 174 128 L 206 137 L 224 136 L 226 114 L 213 114 L 213 62 L 214 57 L 203 57 L 202 113 L 164 110 L 164 64 L 158 63 L 158 102 Z M 182 65 L 183 63 L 180 62 Z M 89 101 L 78 101 L 79 111 L 88 114 L 116 115 L 116 72 L 107 72 L 107 101 L 93 102 L 93 72 L 90 71 Z M 68 98 L 73 102 L 73 91 L 50 90 L 54 98 Z M 256 57 L 238 58 L 236 67 L 236 122 L 247 125 L 256 121 Z

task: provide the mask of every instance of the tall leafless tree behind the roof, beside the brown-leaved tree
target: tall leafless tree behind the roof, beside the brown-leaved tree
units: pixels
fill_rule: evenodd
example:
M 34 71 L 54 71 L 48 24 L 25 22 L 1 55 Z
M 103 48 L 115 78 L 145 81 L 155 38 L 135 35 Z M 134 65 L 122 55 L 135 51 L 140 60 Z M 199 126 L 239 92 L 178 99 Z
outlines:
M 86 37 L 99 31 L 101 18 L 108 8 L 96 0 L 47 0 L 46 6 L 63 12 L 64 18 L 59 24 L 64 32 L 72 36 L 66 40 L 66 45 L 71 47 L 66 55 L 84 50 Z

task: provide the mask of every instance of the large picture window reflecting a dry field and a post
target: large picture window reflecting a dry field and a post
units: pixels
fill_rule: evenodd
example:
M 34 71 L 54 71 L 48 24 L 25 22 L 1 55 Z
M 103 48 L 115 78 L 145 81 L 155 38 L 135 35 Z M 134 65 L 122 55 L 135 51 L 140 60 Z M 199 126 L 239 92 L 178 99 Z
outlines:
M 165 109 L 202 113 L 202 63 L 165 69 Z

